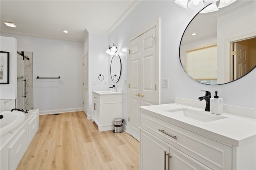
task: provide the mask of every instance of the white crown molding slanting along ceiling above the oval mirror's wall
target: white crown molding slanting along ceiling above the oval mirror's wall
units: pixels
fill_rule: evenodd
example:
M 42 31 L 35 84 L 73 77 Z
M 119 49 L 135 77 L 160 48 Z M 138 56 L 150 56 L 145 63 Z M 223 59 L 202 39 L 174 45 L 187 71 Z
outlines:
M 132 3 L 130 4 L 130 6 L 128 6 L 128 8 L 126 8 L 126 10 L 123 12 L 123 14 L 109 27 L 109 29 L 107 30 L 108 35 L 110 33 L 112 33 L 112 31 L 114 31 L 114 29 L 116 29 L 116 27 L 118 25 L 120 25 L 120 23 L 122 23 L 122 21 L 124 21 L 124 19 L 142 2 L 142 0 L 133 0 Z

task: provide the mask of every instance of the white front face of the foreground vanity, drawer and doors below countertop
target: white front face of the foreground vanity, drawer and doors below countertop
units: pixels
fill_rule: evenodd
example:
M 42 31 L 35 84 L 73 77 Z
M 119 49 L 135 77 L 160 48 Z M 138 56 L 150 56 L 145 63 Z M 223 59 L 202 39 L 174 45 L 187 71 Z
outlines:
M 231 169 L 232 168 L 232 148 L 146 113 L 141 113 L 141 169 L 146 162 L 152 160 L 145 159 L 144 150 L 149 141 L 159 141 L 154 145 L 162 147 L 160 158 L 164 158 L 164 151 L 170 154 L 166 155 L 166 169 Z M 151 136 L 145 135 L 152 134 Z M 148 139 L 145 139 L 148 137 Z M 159 144 L 161 143 L 161 144 Z M 152 144 L 151 144 L 152 145 Z M 149 147 L 149 150 L 152 150 Z M 156 147 L 156 146 L 155 146 Z M 148 156 L 156 156 L 155 152 Z M 154 158 L 153 158 L 154 159 Z M 164 159 L 163 159 L 164 160 Z M 168 163 L 170 162 L 170 163 Z M 162 161 L 163 165 L 164 162 Z M 168 168 L 169 165 L 169 168 Z M 158 169 L 157 167 L 155 167 Z

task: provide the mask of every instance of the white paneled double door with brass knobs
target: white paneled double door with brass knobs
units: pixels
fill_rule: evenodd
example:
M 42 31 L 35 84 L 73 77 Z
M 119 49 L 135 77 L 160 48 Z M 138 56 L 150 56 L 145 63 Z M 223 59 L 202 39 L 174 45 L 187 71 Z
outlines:
M 156 27 L 129 43 L 129 129 L 140 141 L 140 106 L 159 103 Z

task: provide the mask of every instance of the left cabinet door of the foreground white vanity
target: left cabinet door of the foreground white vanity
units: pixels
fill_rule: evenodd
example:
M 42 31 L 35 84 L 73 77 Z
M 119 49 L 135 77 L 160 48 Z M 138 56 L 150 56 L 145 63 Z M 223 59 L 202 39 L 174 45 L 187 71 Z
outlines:
M 169 147 L 150 133 L 140 133 L 140 169 L 166 170 L 168 168 Z

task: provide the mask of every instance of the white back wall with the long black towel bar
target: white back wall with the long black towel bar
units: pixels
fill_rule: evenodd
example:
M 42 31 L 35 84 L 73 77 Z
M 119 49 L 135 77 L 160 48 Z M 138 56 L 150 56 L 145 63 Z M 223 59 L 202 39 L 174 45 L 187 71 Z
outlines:
M 1 34 L 15 37 L 18 51 L 33 52 L 34 109 L 40 113 L 82 110 L 82 43 Z M 37 76 L 60 79 L 36 79 Z M 59 84 L 60 80 L 64 83 Z

